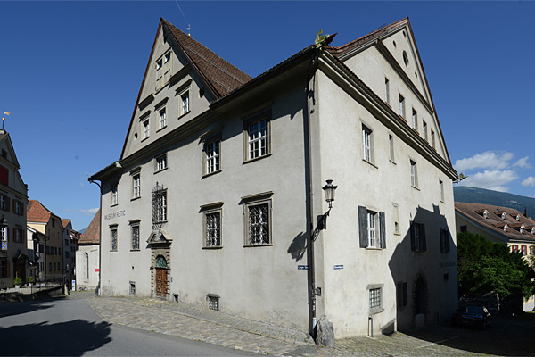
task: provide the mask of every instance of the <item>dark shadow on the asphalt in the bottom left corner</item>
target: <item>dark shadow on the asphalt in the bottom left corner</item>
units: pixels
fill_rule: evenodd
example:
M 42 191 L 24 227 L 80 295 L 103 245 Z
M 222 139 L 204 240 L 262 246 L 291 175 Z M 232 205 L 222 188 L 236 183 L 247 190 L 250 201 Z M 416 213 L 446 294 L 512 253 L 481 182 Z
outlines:
M 0 328 L 2 355 L 81 356 L 111 341 L 110 324 L 72 320 Z

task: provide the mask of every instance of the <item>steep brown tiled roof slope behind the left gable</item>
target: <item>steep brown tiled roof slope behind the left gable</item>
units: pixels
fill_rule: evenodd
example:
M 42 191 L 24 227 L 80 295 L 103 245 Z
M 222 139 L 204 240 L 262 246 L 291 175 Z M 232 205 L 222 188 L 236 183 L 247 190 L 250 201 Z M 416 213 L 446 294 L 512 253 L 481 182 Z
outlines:
M 180 46 L 216 97 L 220 98 L 235 88 L 242 87 L 243 84 L 252 79 L 250 75 L 226 62 L 210 49 L 177 29 L 169 21 L 161 19 L 161 22 L 169 29 L 169 33 L 175 38 L 177 45 Z

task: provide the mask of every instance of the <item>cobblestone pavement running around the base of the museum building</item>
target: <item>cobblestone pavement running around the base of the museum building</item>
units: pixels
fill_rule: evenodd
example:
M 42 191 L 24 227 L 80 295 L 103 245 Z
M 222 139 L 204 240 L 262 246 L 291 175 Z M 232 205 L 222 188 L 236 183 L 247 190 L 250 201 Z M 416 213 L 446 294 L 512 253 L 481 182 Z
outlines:
M 107 322 L 276 356 L 535 355 L 534 351 L 511 350 L 507 346 L 500 349 L 492 345 L 503 339 L 504 332 L 511 330 L 511 326 L 504 323 L 493 322 L 498 326 L 487 331 L 432 326 L 391 336 L 358 336 L 336 340 L 333 347 L 320 348 L 304 332 L 202 310 L 185 303 L 129 296 L 95 297 L 94 292 L 71 293 L 70 298 L 86 299 Z M 525 330 L 525 326 L 519 328 Z M 526 331 L 526 338 L 531 336 L 533 328 Z

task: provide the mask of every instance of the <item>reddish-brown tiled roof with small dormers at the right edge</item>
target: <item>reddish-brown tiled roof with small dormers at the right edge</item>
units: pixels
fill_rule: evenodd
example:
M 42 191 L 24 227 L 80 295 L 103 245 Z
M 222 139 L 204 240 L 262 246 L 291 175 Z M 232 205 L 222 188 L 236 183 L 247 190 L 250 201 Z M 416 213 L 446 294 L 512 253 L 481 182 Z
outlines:
M 489 228 L 496 233 L 509 237 L 509 239 L 522 239 L 535 241 L 535 234 L 531 233 L 531 228 L 535 226 L 535 220 L 524 216 L 512 208 L 493 206 L 483 203 L 455 203 L 456 212 L 463 214 L 465 219 L 472 220 L 485 228 Z M 483 212 L 489 212 L 487 218 L 483 217 Z M 502 213 L 506 212 L 505 218 Z M 516 220 L 518 217 L 518 220 Z M 504 227 L 507 225 L 506 230 Z M 524 225 L 523 233 L 520 228 Z

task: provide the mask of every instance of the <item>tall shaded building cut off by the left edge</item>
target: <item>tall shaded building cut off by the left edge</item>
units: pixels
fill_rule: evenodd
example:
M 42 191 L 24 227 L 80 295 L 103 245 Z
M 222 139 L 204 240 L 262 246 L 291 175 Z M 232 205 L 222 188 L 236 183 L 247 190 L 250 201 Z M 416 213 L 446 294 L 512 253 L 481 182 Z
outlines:
M 26 247 L 28 186 L 22 181 L 9 133 L 0 129 L 0 288 L 26 283 L 29 258 Z

